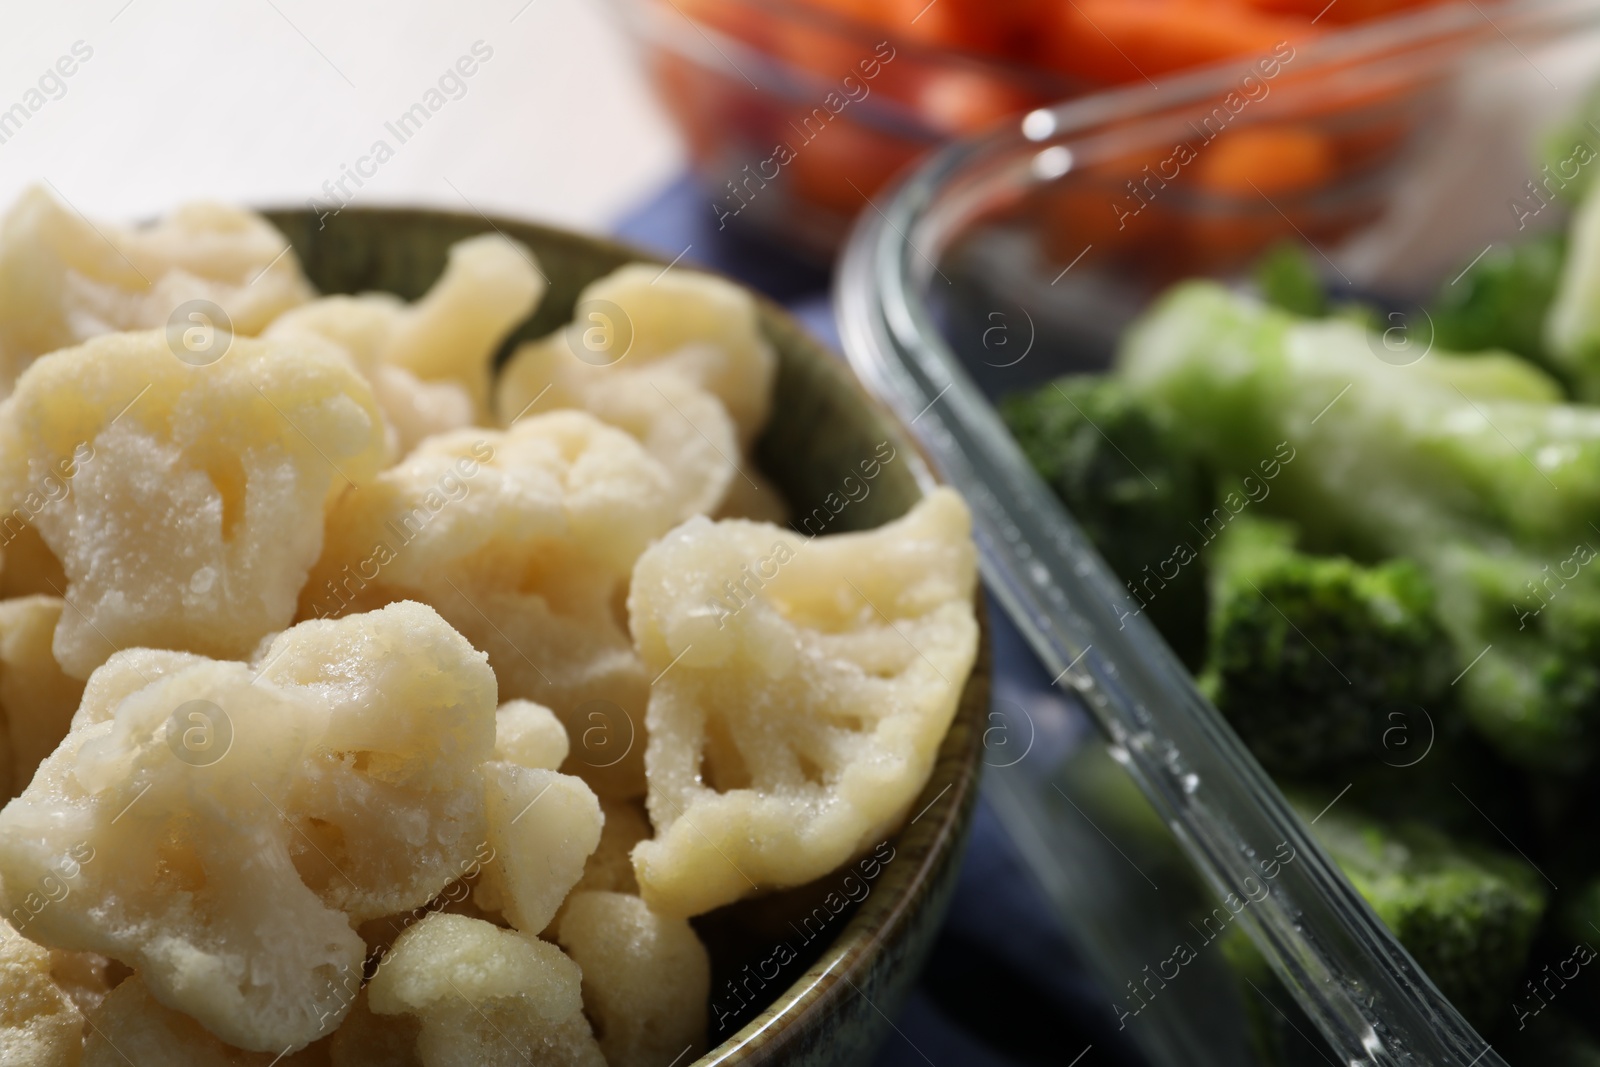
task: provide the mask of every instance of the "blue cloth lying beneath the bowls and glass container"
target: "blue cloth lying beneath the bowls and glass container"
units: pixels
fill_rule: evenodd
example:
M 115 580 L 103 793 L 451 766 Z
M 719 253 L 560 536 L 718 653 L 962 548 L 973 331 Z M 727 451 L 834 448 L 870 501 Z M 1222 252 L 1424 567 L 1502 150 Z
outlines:
M 829 270 L 717 229 L 710 198 L 682 179 L 630 211 L 616 235 L 666 259 L 718 270 L 789 307 L 838 349 Z M 990 601 L 997 689 L 1048 694 L 1050 677 Z M 1048 696 L 1045 697 L 1048 699 Z M 914 995 L 894 1013 L 877 1067 L 1082 1067 L 1139 1062 L 1115 1033 L 1110 997 L 1098 989 L 1021 854 L 979 795 L 955 897 Z

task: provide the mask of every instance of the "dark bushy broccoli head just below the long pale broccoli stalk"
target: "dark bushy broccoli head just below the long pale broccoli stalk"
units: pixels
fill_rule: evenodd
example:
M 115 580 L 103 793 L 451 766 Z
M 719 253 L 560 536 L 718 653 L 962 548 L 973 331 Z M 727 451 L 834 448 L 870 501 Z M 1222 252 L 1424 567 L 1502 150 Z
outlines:
M 1381 755 L 1389 713 L 1438 707 L 1454 656 L 1414 563 L 1363 566 L 1294 539 L 1245 514 L 1213 542 L 1202 685 L 1262 766 L 1306 774 Z

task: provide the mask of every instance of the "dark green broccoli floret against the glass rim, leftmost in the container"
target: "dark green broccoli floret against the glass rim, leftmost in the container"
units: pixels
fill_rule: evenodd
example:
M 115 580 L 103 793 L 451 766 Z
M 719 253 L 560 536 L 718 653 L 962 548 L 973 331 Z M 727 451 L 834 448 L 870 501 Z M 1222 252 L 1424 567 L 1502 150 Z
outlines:
M 1173 651 L 1205 654 L 1205 574 L 1195 523 L 1205 469 L 1106 376 L 1070 376 L 1002 405 L 1006 426 Z

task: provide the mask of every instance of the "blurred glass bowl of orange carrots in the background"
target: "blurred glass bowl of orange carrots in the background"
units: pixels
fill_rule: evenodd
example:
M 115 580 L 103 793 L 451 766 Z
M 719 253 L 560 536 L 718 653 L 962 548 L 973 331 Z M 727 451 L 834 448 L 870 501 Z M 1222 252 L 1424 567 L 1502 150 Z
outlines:
M 1230 58 L 1293 56 L 1352 32 L 1403 37 L 1408 16 L 1442 2 L 618 0 L 712 224 L 816 258 L 890 178 L 950 138 Z M 1373 154 L 1398 142 L 1392 130 L 1368 136 Z M 1304 187 L 1333 171 L 1331 147 L 1301 134 L 1234 152 L 1208 162 L 1222 187 L 1262 173 Z

